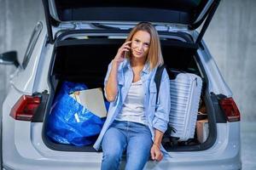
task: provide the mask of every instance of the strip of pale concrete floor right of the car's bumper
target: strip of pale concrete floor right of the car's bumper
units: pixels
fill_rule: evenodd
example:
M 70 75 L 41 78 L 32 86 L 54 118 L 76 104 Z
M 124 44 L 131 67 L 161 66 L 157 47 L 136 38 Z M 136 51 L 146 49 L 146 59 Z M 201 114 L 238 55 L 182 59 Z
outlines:
M 243 170 L 256 169 L 256 122 L 241 122 L 241 161 Z

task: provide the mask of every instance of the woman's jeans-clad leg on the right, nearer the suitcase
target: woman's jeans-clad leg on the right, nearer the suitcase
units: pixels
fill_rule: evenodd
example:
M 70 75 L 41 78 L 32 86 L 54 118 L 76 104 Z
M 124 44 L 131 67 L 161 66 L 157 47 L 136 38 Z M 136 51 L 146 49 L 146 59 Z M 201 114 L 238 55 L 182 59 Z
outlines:
M 142 170 L 150 156 L 152 143 L 149 128 L 143 124 L 131 122 L 125 169 Z

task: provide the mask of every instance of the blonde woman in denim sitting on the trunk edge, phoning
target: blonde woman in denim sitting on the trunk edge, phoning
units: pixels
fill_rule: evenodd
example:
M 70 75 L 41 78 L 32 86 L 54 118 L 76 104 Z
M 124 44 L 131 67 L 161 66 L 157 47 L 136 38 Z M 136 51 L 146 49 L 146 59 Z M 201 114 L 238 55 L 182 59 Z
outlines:
M 164 61 L 160 39 L 154 26 L 135 26 L 108 65 L 105 96 L 110 102 L 96 150 L 102 145 L 102 169 L 118 169 L 125 151 L 125 169 L 143 169 L 149 156 L 161 161 L 161 139 L 170 112 L 170 82 L 162 74 L 158 100 L 154 74 Z M 167 96 L 167 97 L 166 97 Z

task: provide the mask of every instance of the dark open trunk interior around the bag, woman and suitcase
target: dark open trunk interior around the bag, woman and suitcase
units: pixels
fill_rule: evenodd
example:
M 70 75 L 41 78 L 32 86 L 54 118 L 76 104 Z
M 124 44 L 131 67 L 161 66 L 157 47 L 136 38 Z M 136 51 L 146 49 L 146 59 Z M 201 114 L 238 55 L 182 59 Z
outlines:
M 44 119 L 43 139 L 44 143 L 53 150 L 96 151 L 92 148 L 92 145 L 78 147 L 69 144 L 56 144 L 47 137 L 45 125 L 55 94 L 58 93 L 62 82 L 84 82 L 88 88 L 103 88 L 103 80 L 108 70 L 108 64 L 115 56 L 119 46 L 125 41 L 125 36 L 89 36 L 86 34 L 79 35 L 78 32 L 73 35 L 76 36 L 63 36 L 62 40 L 59 37 L 59 41 L 55 42 L 55 54 L 53 54 L 51 62 L 52 69 L 49 72 L 50 95 Z M 165 64 L 169 68 L 194 73 L 202 77 L 203 89 L 199 111 L 211 114 L 211 110 L 207 107 L 207 104 L 211 101 L 205 97 L 207 82 L 205 82 L 205 78 L 203 78 L 205 76 L 201 75 L 201 69 L 199 69 L 200 61 L 196 54 L 197 47 L 191 43 L 192 41 L 188 35 L 179 35 L 178 33 L 172 35 L 169 32 L 167 36 L 165 33 L 160 33 L 160 39 Z M 207 119 L 207 114 L 199 114 L 198 120 Z M 209 127 L 211 128 L 211 126 Z M 209 137 L 214 136 L 210 129 L 199 130 L 204 133 L 205 131 L 210 132 Z M 207 145 L 209 146 L 214 141 L 214 138 L 208 138 Z M 202 144 L 198 140 L 196 131 L 194 139 L 189 139 L 186 142 L 170 142 L 170 139 L 165 138 L 163 139 L 163 145 L 169 151 L 204 150 L 207 148 L 206 144 L 201 147 Z

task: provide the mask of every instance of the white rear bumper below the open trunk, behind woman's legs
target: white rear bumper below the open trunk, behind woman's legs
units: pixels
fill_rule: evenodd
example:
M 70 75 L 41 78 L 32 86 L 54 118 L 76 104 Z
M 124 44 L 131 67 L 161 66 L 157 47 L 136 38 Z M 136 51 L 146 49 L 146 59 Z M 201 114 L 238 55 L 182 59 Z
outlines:
M 40 135 L 42 123 L 15 122 L 15 132 L 22 127 L 30 133 L 4 133 L 3 167 L 5 169 L 100 169 L 101 152 L 64 152 L 50 150 Z M 14 125 L 12 124 L 12 125 Z M 202 151 L 170 152 L 171 158 L 148 161 L 145 169 L 241 169 L 240 122 L 217 125 L 217 142 Z M 122 162 L 121 166 L 124 167 Z

